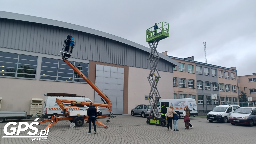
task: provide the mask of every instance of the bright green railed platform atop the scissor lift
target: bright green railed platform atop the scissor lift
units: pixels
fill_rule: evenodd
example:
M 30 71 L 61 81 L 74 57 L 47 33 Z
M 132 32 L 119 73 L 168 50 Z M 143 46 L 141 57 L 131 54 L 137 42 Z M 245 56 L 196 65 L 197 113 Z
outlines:
M 155 39 L 165 39 L 169 37 L 169 24 L 166 22 L 158 23 L 158 29 L 154 29 L 156 25 L 152 26 L 151 28 L 147 29 L 147 42 L 154 42 Z

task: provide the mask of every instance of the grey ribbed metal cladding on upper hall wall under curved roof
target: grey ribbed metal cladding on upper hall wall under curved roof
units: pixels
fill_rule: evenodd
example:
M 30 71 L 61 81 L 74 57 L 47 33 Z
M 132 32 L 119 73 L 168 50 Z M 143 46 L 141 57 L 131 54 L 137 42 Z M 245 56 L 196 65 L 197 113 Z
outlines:
M 130 45 L 67 28 L 0 18 L 1 47 L 58 55 L 68 35 L 76 41 L 74 58 L 150 68 L 149 53 Z M 172 72 L 172 64 L 161 59 L 158 70 Z

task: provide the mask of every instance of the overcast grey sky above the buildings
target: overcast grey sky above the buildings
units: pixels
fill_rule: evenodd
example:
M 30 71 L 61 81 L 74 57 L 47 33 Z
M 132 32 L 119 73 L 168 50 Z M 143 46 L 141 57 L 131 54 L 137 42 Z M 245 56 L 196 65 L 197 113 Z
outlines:
M 256 73 L 256 1 L 1 1 L 0 11 L 68 22 L 149 48 L 146 30 L 167 22 L 170 37 L 157 50 L 169 56 L 237 67 L 239 76 Z

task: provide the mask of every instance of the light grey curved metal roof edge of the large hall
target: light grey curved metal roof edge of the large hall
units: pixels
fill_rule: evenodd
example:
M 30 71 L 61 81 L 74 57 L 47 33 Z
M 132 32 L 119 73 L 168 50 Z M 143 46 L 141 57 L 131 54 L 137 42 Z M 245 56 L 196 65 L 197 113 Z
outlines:
M 0 17 L 1 18 L 6 18 L 6 19 L 14 19 L 14 20 L 21 20 L 21 21 L 26 21 L 26 22 L 33 22 L 33 23 L 40 23 L 40 24 L 46 24 L 46 25 L 52 25 L 52 26 L 58 26 L 58 27 L 63 27 L 63 28 L 68 28 L 68 29 L 73 29 L 73 30 L 77 30 L 77 31 L 81 31 L 81 32 L 85 32 L 85 33 L 89 33 L 89 34 L 93 34 L 93 35 L 98 35 L 101 37 L 105 37 L 105 38 L 109 38 L 130 46 L 133 46 L 135 48 L 144 50 L 148 53 L 151 53 L 151 49 L 147 48 L 145 46 L 142 46 L 140 44 L 134 43 L 130 40 L 118 37 L 118 36 L 114 36 L 108 33 L 104 33 L 101 32 L 99 30 L 95 30 L 95 29 L 91 29 L 88 27 L 83 27 L 83 26 L 79 26 L 79 25 L 74 25 L 74 24 L 70 24 L 70 23 L 66 23 L 66 22 L 60 22 L 57 20 L 52 20 L 52 19 L 47 19 L 47 18 L 41 18 L 41 17 L 35 17 L 35 16 L 29 16 L 29 15 L 23 15 L 23 14 L 17 14 L 17 13 L 10 13 L 10 12 L 3 12 L 0 11 Z M 178 62 L 176 62 L 175 60 L 159 53 L 160 57 L 163 58 L 164 60 L 170 62 L 173 64 L 173 66 L 178 66 Z

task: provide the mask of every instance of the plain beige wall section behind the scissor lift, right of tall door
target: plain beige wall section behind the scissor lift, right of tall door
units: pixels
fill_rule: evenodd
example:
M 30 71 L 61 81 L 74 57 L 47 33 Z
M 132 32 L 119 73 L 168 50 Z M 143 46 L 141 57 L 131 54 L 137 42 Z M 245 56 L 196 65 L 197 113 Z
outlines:
M 129 67 L 129 97 L 128 112 L 140 104 L 149 104 L 145 100 L 145 96 L 149 95 L 151 87 L 147 77 L 150 70 L 135 67 Z M 173 99 L 173 73 L 159 71 L 161 78 L 159 79 L 157 89 L 161 95 L 161 99 Z M 125 101 L 124 101 L 125 102 Z

